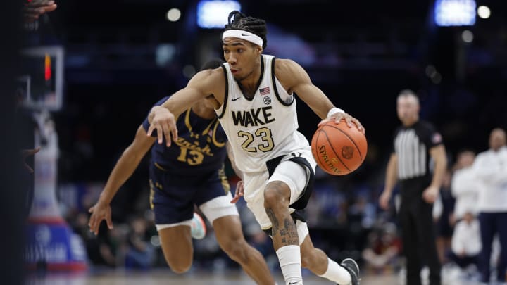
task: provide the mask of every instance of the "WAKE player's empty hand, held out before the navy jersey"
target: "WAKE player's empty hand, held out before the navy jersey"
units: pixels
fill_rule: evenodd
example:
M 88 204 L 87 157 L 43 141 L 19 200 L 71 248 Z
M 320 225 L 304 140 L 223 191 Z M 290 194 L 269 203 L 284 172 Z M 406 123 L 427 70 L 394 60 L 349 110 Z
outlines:
M 149 120 L 151 123 L 147 133 L 148 137 L 151 137 L 151 133 L 156 130 L 158 144 L 162 144 L 163 137 L 165 137 L 165 146 L 169 147 L 171 134 L 172 139 L 177 139 L 176 118 L 168 109 L 162 106 L 151 108 Z

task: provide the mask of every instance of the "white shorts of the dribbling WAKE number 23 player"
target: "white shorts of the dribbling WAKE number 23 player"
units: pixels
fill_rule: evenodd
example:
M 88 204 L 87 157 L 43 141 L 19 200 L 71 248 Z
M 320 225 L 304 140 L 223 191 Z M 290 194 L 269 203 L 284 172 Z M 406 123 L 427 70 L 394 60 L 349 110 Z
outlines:
M 313 171 L 315 171 L 317 164 L 313 159 L 310 148 L 304 148 L 295 151 L 295 153 L 301 153 L 301 157 L 305 158 L 311 167 L 313 167 Z M 270 229 L 271 227 L 271 221 L 264 209 L 264 189 L 269 182 L 281 181 L 289 186 L 291 191 L 289 204 L 298 200 L 308 183 L 308 170 L 306 170 L 306 167 L 289 160 L 293 157 L 292 155 L 284 156 L 271 177 L 269 177 L 267 170 L 265 172 L 244 174 L 244 199 L 246 205 L 256 217 L 261 229 Z M 290 213 L 294 212 L 292 208 L 289 208 L 289 210 Z M 306 226 L 306 223 L 303 224 Z

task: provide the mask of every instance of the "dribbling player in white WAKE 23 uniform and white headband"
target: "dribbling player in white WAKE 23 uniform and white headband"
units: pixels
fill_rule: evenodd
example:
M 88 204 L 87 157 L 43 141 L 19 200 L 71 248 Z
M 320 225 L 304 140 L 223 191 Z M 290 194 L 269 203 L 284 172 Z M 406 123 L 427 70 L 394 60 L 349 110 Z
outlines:
M 303 215 L 313 186 L 315 160 L 297 131 L 299 96 L 323 122 L 361 123 L 335 108 L 294 61 L 263 55 L 265 21 L 232 11 L 222 35 L 225 63 L 197 73 L 187 87 L 151 110 L 148 130 L 158 143 L 177 139 L 175 118 L 208 94 L 244 174 L 244 199 L 262 229 L 270 234 L 287 285 L 303 284 L 301 266 L 341 285 L 359 284 L 359 268 L 346 258 L 339 265 L 313 243 Z M 342 122 L 344 123 L 344 122 Z M 234 201 L 242 196 L 236 194 Z

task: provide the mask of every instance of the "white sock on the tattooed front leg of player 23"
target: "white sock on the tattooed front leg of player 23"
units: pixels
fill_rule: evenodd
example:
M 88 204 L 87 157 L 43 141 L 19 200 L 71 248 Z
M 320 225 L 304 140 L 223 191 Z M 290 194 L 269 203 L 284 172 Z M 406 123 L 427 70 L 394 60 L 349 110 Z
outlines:
M 286 285 L 302 285 L 301 277 L 301 249 L 299 246 L 282 246 L 277 250 L 278 261 Z

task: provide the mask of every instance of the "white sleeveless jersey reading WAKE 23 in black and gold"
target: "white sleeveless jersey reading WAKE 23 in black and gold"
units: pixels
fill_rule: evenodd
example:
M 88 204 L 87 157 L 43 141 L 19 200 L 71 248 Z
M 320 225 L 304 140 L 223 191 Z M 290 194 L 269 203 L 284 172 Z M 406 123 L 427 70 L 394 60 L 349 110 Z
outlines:
M 252 99 L 246 98 L 224 63 L 227 89 L 222 106 L 215 110 L 234 160 L 245 173 L 267 170 L 266 161 L 309 148 L 298 129 L 296 99 L 275 77 L 273 56 L 261 55 L 261 80 Z

